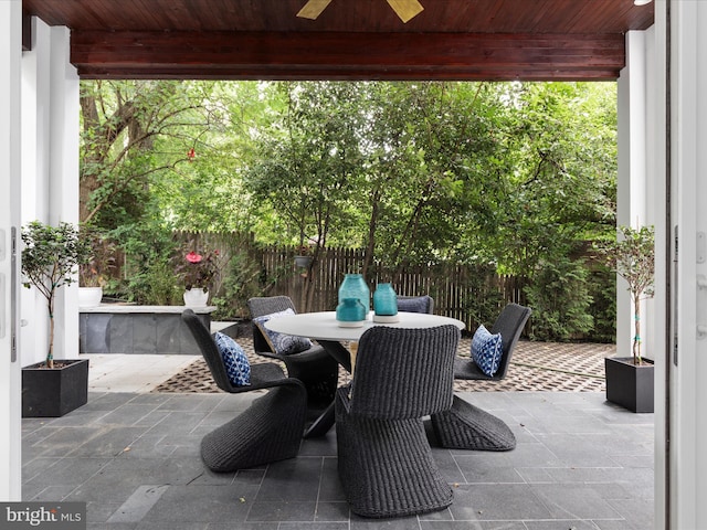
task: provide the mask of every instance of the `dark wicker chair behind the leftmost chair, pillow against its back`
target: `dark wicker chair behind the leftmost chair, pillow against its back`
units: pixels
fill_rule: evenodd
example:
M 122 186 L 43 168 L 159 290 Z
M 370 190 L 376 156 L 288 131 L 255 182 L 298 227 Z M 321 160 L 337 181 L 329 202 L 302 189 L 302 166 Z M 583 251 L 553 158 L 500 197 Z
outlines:
M 297 312 L 288 296 L 251 298 L 247 300 L 247 307 L 252 318 L 286 309 Z M 253 324 L 253 349 L 255 353 L 283 361 L 287 368 L 287 375 L 304 383 L 312 407 L 323 409 L 334 401 L 338 385 L 339 364 L 321 346 L 314 344 L 299 353 L 282 356 L 272 350 L 260 328 Z

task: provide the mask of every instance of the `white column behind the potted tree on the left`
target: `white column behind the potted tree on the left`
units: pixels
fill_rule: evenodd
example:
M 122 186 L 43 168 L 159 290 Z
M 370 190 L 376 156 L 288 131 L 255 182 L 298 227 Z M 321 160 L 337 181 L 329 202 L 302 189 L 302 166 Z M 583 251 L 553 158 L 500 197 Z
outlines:
M 78 76 L 68 62 L 70 32 L 32 21 L 34 45 L 22 59 L 22 224 L 78 221 Z M 22 364 L 44 359 L 48 315 L 36 289 L 22 289 Z M 76 285 L 60 289 L 54 357 L 78 354 Z

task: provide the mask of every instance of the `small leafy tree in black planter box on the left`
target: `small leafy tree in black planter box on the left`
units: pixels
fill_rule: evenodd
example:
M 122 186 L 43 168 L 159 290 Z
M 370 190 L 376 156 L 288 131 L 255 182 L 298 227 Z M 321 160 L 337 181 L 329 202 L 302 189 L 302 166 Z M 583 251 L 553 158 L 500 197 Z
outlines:
M 54 360 L 54 307 L 57 290 L 76 280 L 76 268 L 91 255 L 71 223 L 51 226 L 33 221 L 22 229 L 23 285 L 34 286 L 49 311 L 49 348 L 42 362 L 22 369 L 22 415 L 61 416 L 88 396 L 88 360 Z

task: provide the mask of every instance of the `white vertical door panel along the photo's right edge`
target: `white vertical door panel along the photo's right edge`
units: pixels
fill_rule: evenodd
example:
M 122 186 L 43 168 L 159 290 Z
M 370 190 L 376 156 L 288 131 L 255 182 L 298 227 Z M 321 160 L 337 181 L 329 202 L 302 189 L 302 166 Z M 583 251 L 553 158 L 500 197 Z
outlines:
M 674 329 L 677 364 L 671 364 L 671 528 L 707 528 L 707 275 L 698 234 L 707 234 L 707 2 L 671 1 L 671 204 L 679 229 L 675 265 Z M 658 421 L 658 418 L 656 418 Z

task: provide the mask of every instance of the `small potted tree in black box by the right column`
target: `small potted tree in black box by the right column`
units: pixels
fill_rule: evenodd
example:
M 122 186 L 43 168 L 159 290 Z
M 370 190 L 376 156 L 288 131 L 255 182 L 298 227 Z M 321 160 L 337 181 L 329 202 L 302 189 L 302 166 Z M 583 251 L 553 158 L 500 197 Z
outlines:
M 604 245 L 601 253 L 626 282 L 634 311 L 632 354 L 604 361 L 606 400 L 632 412 L 653 412 L 653 362 L 641 356 L 641 301 L 654 294 L 654 227 L 620 226 L 616 241 Z

